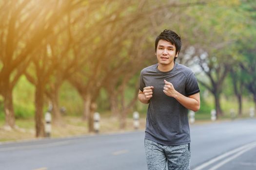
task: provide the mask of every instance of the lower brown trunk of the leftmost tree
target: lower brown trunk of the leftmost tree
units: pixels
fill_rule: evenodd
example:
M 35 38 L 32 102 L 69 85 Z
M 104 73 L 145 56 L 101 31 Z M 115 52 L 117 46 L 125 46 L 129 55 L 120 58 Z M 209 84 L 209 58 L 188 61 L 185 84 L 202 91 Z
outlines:
M 5 113 L 5 125 L 6 127 L 14 128 L 15 127 L 15 114 L 13 109 L 13 97 L 12 89 L 9 89 L 8 86 L 3 93 L 4 97 L 4 113 Z

